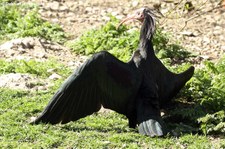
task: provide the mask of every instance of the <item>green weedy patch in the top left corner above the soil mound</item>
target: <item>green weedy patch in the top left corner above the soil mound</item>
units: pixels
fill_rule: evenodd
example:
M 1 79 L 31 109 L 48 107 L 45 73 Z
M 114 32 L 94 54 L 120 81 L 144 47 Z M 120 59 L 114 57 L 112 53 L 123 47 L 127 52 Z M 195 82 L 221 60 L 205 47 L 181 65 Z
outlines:
M 66 34 L 59 25 L 41 18 L 36 4 L 0 1 L 0 43 L 27 36 L 59 43 L 66 40 Z

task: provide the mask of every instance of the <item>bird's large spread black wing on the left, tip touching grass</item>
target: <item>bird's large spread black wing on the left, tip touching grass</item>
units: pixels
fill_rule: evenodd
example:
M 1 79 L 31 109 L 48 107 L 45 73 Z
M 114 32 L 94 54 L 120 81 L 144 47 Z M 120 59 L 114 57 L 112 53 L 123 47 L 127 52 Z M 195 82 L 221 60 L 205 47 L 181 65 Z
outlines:
M 138 91 L 132 67 L 108 52 L 99 52 L 78 68 L 32 124 L 67 123 L 97 112 L 101 105 L 125 114 Z

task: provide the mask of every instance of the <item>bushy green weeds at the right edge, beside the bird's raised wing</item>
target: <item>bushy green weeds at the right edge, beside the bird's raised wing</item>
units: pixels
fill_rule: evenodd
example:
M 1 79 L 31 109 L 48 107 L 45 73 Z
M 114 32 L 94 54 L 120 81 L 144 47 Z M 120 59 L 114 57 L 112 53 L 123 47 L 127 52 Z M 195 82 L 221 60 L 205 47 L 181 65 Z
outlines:
M 225 132 L 225 56 L 217 63 L 204 62 L 177 96 L 183 106 L 170 111 L 170 116 L 198 128 L 204 134 Z

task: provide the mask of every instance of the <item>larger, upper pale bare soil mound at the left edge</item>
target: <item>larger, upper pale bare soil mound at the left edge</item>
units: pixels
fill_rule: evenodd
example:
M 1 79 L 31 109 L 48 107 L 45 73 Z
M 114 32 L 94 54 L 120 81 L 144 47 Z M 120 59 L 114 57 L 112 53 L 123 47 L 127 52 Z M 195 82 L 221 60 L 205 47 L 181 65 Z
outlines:
M 0 45 L 0 58 L 10 60 L 45 61 L 49 58 L 71 67 L 79 66 L 86 59 L 85 56 L 73 54 L 68 48 L 45 39 L 26 37 L 13 39 Z

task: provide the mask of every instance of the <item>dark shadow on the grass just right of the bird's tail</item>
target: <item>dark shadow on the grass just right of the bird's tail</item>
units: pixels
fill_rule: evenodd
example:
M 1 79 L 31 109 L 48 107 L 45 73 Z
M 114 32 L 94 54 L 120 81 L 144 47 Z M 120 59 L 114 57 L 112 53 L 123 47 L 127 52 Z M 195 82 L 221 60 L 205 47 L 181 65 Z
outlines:
M 205 111 L 199 104 L 173 101 L 163 109 L 163 112 L 168 129 L 176 135 L 203 134 L 198 119 L 205 115 Z

